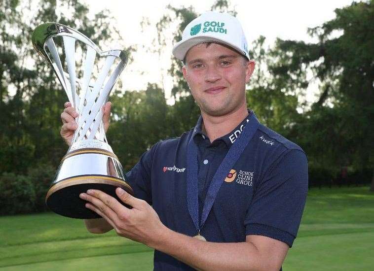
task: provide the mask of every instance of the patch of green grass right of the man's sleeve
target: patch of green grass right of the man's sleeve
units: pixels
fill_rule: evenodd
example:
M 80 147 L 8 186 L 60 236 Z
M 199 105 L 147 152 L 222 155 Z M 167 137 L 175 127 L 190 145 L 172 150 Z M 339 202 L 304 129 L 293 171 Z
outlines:
M 369 187 L 309 190 L 284 271 L 373 271 L 374 193 Z

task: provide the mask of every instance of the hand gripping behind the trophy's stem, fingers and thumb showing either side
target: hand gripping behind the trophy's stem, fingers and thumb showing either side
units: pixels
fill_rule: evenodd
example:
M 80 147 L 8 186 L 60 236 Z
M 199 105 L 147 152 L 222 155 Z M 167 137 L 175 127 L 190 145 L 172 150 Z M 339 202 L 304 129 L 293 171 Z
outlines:
M 77 112 L 75 111 L 74 107 L 70 102 L 65 102 L 64 104 L 64 111 L 61 113 L 61 120 L 62 120 L 62 127 L 60 130 L 60 135 L 64 138 L 65 142 L 70 146 L 72 144 L 72 139 L 75 130 L 78 128 L 75 118 L 78 117 Z M 111 107 L 112 103 L 107 102 L 103 106 L 103 121 L 104 121 L 104 131 L 107 132 L 109 128 L 109 121 L 111 116 Z

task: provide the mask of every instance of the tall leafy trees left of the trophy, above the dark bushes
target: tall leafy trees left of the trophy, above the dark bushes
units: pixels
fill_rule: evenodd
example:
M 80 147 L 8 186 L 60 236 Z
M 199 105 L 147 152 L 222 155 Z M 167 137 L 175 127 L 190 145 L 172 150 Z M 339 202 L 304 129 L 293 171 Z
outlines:
M 108 11 L 90 20 L 88 7 L 77 1 L 1 0 L 0 6 L 0 171 L 26 174 L 37 164 L 57 167 L 67 150 L 59 135 L 67 97 L 52 68 L 37 56 L 31 34 L 37 25 L 52 21 L 100 46 L 119 35 Z M 37 10 L 28 20 L 31 6 Z

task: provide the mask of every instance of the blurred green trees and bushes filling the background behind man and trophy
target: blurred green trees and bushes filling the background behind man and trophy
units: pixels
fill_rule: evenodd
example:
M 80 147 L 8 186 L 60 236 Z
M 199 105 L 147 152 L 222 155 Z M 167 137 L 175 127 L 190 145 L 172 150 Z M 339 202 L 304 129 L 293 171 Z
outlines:
M 66 12 L 58 13 L 55 0 L 39 0 L 31 21 L 25 21 L 31 2 L 0 0 L 0 215 L 44 211 L 44 195 L 68 149 L 59 135 L 66 94 L 32 47 L 34 28 L 54 21 L 97 44 L 120 39 L 107 10 L 89 20 L 87 5 L 59 1 L 73 14 L 69 19 Z M 226 0 L 217 0 L 212 10 L 236 14 Z M 335 19 L 308 30 L 316 43 L 277 39 L 265 48 L 260 36 L 250 45 L 257 68 L 247 86 L 248 107 L 305 150 L 310 186 L 371 183 L 373 191 L 374 1 L 353 2 L 335 13 Z M 172 29 L 175 42 L 198 15 L 192 7 L 169 5 L 155 26 L 159 34 L 152 50 L 165 48 L 172 22 L 178 22 Z M 107 135 L 127 170 L 152 144 L 181 135 L 198 118 L 182 63 L 170 57 L 175 104 L 167 103 L 157 84 L 121 93 L 119 82 L 112 91 Z M 25 68 L 29 61 L 32 68 Z M 318 82 L 319 97 L 310 104 L 303 97 L 311 82 Z

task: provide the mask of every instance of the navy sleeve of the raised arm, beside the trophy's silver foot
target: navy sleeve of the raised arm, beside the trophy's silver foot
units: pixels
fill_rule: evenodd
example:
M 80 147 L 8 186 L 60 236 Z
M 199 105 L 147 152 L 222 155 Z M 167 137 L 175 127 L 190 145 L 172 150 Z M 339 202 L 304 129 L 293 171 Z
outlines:
M 160 141 L 161 142 L 161 141 Z M 152 205 L 151 169 L 154 153 L 158 144 L 143 153 L 139 162 L 126 173 L 126 181 L 134 191 L 134 197 L 145 200 Z

